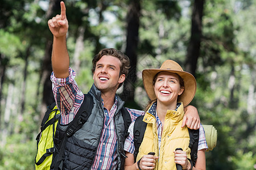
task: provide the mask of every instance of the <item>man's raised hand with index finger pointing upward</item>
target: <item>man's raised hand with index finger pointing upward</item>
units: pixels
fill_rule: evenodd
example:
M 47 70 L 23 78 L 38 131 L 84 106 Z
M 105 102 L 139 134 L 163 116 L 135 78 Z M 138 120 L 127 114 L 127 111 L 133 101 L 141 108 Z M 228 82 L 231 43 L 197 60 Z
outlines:
M 60 2 L 61 13 L 48 20 L 48 27 L 56 38 L 67 35 L 68 20 L 66 16 L 66 7 L 63 1 Z

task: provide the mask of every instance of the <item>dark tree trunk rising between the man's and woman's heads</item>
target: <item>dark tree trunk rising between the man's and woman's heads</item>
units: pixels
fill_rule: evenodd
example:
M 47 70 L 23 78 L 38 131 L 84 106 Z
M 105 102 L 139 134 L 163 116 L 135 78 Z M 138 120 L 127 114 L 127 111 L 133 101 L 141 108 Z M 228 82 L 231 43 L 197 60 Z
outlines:
M 137 80 L 137 49 L 139 40 L 139 17 L 141 16 L 141 2 L 131 0 L 127 13 L 127 38 L 125 54 L 130 58 L 131 67 L 123 84 L 122 100 L 134 102 L 135 83 Z

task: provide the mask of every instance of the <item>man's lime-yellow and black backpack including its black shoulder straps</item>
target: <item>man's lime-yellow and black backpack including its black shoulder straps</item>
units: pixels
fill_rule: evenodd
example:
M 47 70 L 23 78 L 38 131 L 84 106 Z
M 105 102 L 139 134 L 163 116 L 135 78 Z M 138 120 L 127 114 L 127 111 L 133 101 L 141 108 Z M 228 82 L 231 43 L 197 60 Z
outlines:
M 35 156 L 36 170 L 56 168 L 64 154 L 65 142 L 67 141 L 67 138 L 75 134 L 76 131 L 79 130 L 88 120 L 90 113 L 92 113 L 93 99 L 89 94 L 85 94 L 84 96 L 84 101 L 81 104 L 75 118 L 68 124 L 68 128 L 65 131 L 65 137 L 58 147 L 59 152 L 57 154 L 55 153 L 57 148 L 53 139 L 55 138 L 56 127 L 59 125 L 58 121 L 60 118 L 60 111 L 57 109 L 55 103 L 48 106 L 47 112 L 42 120 L 41 131 L 36 137 L 38 147 L 37 154 Z M 129 135 L 127 131 L 129 125 L 131 124 L 131 116 L 124 107 L 122 107 L 121 113 L 123 121 L 125 122 L 125 137 L 127 137 Z

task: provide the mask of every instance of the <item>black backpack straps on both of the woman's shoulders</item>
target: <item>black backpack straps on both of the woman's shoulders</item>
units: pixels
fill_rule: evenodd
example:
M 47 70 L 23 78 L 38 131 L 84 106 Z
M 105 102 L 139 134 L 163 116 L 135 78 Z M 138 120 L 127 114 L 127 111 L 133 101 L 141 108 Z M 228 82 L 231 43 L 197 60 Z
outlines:
M 143 141 L 144 133 L 147 128 L 147 123 L 143 121 L 144 116 L 139 116 L 134 122 L 134 162 L 136 162 L 136 158 L 139 152 L 139 147 Z M 188 128 L 188 133 L 190 137 L 189 141 L 189 148 L 191 148 L 191 160 L 195 165 L 197 160 L 197 148 L 198 148 L 198 141 L 199 141 L 199 129 L 193 130 Z

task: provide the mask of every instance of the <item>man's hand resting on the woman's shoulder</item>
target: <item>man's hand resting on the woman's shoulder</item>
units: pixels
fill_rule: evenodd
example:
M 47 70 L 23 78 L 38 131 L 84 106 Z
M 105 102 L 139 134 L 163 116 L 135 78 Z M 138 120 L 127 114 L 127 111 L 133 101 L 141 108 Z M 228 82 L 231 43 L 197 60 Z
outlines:
M 184 111 L 185 111 L 185 114 L 183 117 L 181 128 L 187 125 L 189 129 L 199 129 L 200 117 L 197 112 L 197 109 L 192 105 L 188 105 L 187 107 L 184 108 Z

